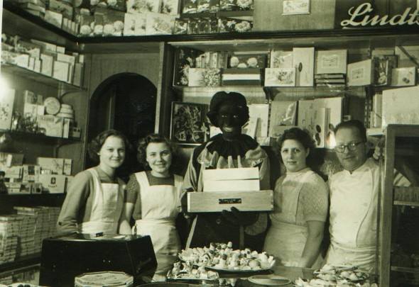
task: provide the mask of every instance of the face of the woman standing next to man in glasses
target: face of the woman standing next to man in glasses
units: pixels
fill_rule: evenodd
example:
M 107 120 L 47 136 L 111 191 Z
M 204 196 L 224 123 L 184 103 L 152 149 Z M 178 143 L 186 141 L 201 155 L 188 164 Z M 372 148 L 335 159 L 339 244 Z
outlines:
M 310 150 L 306 149 L 298 140 L 284 140 L 281 147 L 281 157 L 287 171 L 295 172 L 305 169 L 305 159 Z

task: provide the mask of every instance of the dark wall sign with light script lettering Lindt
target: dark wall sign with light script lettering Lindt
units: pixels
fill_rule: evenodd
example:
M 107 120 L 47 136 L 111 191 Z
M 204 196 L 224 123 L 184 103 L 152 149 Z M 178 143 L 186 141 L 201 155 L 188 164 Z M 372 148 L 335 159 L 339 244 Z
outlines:
M 337 9 L 339 6 L 337 5 Z M 403 6 L 402 6 L 403 7 Z M 406 8 L 405 8 L 406 7 Z M 355 2 L 351 6 L 340 7 L 336 13 L 337 28 L 372 28 L 382 26 L 419 26 L 419 9 L 413 5 L 406 5 L 398 11 L 383 9 L 371 1 Z M 393 11 L 392 11 L 393 10 Z M 393 13 L 391 13 L 393 12 Z

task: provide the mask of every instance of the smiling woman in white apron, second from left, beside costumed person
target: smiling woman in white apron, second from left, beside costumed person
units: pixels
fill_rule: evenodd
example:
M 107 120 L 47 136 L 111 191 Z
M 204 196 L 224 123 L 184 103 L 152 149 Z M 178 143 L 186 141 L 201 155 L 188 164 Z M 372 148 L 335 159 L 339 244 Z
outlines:
M 174 151 L 161 135 L 145 137 L 138 144 L 138 161 L 151 170 L 133 174 L 126 186 L 121 230 L 130 233 L 129 220 L 134 217 L 133 232 L 150 235 L 156 254 L 176 255 L 180 251 L 175 219 L 181 211 L 183 178 L 170 171 Z

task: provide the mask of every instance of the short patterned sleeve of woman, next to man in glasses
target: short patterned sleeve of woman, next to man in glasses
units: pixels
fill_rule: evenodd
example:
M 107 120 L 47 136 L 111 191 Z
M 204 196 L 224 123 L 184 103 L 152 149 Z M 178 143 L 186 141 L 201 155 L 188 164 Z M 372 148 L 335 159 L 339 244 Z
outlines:
M 310 180 L 303 184 L 299 204 L 298 208 L 303 208 L 305 221 L 326 222 L 329 192 L 327 184 L 320 176 L 310 176 Z

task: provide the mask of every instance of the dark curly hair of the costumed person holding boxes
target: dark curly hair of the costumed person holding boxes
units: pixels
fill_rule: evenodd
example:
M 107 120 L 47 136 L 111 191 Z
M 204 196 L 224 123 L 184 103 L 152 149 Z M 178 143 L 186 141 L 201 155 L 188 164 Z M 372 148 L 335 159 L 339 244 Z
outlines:
M 247 123 L 249 120 L 249 107 L 247 106 L 246 97 L 235 91 L 231 91 L 229 93 L 226 91 L 217 91 L 217 93 L 212 96 L 211 101 L 209 102 L 209 111 L 207 113 L 207 117 L 212 125 L 218 127 L 217 115 L 219 107 L 222 105 L 222 103 L 234 103 L 234 105 L 239 108 L 241 113 L 241 125 Z

